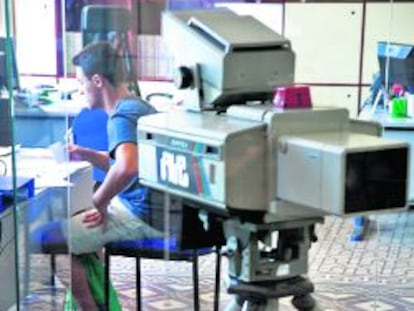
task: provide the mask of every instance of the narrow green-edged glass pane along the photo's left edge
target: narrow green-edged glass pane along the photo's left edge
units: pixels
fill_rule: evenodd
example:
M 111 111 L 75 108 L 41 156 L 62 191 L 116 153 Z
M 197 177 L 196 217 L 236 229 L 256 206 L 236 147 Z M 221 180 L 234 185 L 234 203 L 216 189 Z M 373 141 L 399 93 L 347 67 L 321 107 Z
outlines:
M 15 147 L 13 145 L 13 44 L 10 3 L 0 4 L 0 308 L 16 305 L 18 296 Z

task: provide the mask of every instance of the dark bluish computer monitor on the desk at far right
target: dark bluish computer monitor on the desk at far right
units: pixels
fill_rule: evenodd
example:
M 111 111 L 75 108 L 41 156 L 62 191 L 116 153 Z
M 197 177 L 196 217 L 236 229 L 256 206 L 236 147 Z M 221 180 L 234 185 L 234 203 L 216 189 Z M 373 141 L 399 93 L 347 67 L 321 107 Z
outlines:
M 377 52 L 383 85 L 400 84 L 414 93 L 414 45 L 380 41 Z

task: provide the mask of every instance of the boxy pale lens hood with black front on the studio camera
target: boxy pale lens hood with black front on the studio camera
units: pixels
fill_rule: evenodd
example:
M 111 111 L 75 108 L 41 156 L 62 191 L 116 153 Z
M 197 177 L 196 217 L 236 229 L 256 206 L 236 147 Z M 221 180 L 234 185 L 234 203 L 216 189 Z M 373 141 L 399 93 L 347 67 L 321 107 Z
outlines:
M 335 215 L 405 207 L 408 157 L 405 143 L 366 134 L 283 136 L 277 197 Z

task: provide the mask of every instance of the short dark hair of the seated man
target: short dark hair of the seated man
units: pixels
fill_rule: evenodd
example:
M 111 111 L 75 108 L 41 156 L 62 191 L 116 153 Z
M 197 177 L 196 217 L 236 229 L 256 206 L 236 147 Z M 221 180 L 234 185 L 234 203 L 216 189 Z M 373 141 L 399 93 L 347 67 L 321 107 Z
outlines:
M 105 77 L 114 87 L 126 81 L 125 65 L 118 51 L 107 41 L 86 45 L 72 58 L 75 66 L 82 68 L 89 79 L 94 74 Z

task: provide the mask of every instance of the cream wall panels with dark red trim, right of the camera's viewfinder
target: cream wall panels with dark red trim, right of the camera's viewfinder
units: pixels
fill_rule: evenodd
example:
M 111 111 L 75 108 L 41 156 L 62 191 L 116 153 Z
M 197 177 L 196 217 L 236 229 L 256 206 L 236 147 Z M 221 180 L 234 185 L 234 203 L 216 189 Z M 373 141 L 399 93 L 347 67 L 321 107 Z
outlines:
M 315 105 L 342 106 L 356 117 L 359 101 L 361 38 L 362 83 L 379 71 L 377 41 L 414 44 L 414 1 L 363 4 L 286 3 L 286 32 L 296 53 L 295 81 L 312 83 Z M 363 102 L 369 92 L 362 88 Z

